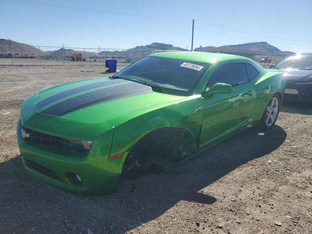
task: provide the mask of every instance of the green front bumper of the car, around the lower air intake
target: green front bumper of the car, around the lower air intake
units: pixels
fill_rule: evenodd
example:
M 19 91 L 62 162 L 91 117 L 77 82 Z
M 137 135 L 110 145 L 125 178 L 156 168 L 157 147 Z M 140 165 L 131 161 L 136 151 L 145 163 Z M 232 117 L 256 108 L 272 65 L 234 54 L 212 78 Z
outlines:
M 122 166 L 126 158 L 107 160 L 112 139 L 108 136 L 99 137 L 85 157 L 71 157 L 61 151 L 56 153 L 47 147 L 26 143 L 21 136 L 21 123 L 18 121 L 17 138 L 24 170 L 45 182 L 61 188 L 87 192 L 89 194 L 109 194 L 114 192 Z M 81 185 L 73 184 L 68 173 L 74 173 L 81 178 Z

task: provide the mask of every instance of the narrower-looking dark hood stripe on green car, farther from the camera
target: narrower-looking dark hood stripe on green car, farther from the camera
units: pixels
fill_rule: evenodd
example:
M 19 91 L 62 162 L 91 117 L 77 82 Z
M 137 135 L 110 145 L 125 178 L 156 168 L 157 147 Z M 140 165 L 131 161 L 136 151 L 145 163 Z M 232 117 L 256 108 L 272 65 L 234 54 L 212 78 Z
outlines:
M 126 80 L 124 80 L 124 79 L 112 79 L 112 80 L 103 80 L 103 81 L 92 83 L 92 84 L 82 85 L 82 86 L 79 86 L 77 88 L 69 89 L 69 90 L 66 90 L 64 92 L 58 93 L 58 94 L 53 95 L 49 98 L 45 98 L 36 104 L 36 108 L 37 108 L 37 110 L 39 110 L 39 109 L 45 107 L 46 105 L 49 105 L 49 104 L 51 104 L 51 103 L 53 103 L 53 102 L 55 102 L 61 98 L 66 98 L 66 97 L 69 97 L 71 95 L 74 95 L 74 94 L 77 94 L 77 93 L 80 93 L 80 92 L 83 92 L 83 91 L 86 91 L 89 89 L 95 89 L 98 87 L 116 84 L 116 83 L 125 82 L 125 81 Z

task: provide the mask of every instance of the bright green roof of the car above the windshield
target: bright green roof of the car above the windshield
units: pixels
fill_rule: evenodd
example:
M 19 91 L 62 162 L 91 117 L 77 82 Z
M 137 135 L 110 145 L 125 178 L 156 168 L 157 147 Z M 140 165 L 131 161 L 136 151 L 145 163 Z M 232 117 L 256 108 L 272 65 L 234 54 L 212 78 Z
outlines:
M 237 55 L 228 55 L 221 53 L 208 53 L 208 52 L 192 52 L 192 51 L 174 51 L 174 52 L 160 52 L 151 54 L 149 56 L 163 57 L 163 58 L 171 58 L 171 59 L 185 59 L 197 62 L 213 62 L 215 59 L 221 58 L 233 58 L 237 57 L 237 59 L 242 59 L 245 57 L 237 56 Z

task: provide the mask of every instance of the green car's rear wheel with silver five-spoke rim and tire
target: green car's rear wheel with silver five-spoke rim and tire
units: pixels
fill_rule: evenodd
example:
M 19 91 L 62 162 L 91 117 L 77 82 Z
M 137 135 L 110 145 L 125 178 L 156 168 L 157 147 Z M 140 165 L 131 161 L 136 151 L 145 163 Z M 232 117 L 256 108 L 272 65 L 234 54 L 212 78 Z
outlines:
M 278 117 L 280 105 L 281 98 L 278 94 L 275 94 L 272 98 L 270 98 L 258 124 L 258 128 L 260 130 L 269 130 L 273 128 Z

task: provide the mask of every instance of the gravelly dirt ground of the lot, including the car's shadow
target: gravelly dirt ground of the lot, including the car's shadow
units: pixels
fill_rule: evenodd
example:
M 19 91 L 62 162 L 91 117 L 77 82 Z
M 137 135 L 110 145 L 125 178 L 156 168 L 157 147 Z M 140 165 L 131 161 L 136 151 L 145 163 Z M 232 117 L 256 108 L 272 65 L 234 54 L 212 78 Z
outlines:
M 24 174 L 16 122 L 24 98 L 101 66 L 0 67 L 0 233 L 311 234 L 312 107 L 284 103 L 276 126 L 249 130 L 183 165 L 180 174 L 78 195 Z

